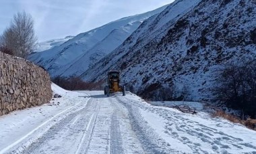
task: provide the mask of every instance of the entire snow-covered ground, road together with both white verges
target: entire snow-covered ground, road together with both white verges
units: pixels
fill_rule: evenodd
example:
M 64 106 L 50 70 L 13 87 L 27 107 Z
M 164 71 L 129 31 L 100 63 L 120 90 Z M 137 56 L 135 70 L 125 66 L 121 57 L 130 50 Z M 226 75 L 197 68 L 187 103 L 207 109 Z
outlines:
M 0 117 L 0 153 L 256 153 L 255 131 L 204 112 L 130 93 L 57 91 L 51 104 Z

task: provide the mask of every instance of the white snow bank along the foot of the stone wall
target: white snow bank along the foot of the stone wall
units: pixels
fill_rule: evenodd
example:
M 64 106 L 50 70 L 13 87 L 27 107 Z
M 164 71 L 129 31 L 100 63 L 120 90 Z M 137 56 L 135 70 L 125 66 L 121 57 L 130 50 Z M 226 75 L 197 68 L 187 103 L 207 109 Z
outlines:
M 52 125 L 61 121 L 68 114 L 80 110 L 87 103 L 79 92 L 64 90 L 56 84 L 51 84 L 53 92 L 61 94 L 50 103 L 24 110 L 17 110 L 0 117 L 0 154 L 11 149 L 22 151 L 43 135 Z M 20 152 L 16 151 L 16 152 Z

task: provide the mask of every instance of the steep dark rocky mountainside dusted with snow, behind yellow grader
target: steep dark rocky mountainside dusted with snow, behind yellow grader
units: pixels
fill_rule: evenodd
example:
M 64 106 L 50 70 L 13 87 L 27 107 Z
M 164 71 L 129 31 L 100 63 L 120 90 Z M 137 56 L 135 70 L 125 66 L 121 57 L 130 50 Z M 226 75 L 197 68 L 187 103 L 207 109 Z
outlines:
M 143 96 L 174 83 L 191 99 L 208 98 L 215 68 L 256 57 L 255 25 L 255 1 L 175 1 L 81 77 L 101 80 L 121 70 L 123 82 Z

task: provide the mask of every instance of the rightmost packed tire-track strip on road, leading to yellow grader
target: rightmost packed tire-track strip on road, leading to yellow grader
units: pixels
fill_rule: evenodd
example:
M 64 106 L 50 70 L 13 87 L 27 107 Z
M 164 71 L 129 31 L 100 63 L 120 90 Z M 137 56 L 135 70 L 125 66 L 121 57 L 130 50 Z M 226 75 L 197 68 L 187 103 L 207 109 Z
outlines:
M 129 110 L 117 96 L 108 99 L 114 109 L 110 124 L 110 153 L 145 153 L 137 134 L 133 131 Z

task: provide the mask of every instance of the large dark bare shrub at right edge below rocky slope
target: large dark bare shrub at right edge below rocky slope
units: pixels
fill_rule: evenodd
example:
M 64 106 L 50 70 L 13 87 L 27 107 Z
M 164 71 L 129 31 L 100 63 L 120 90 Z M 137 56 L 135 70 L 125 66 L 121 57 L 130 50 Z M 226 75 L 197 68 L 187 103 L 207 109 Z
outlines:
M 216 72 L 216 100 L 256 118 L 256 61 L 226 64 Z

